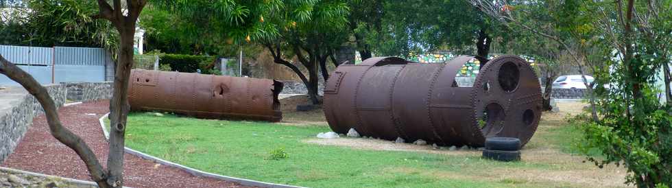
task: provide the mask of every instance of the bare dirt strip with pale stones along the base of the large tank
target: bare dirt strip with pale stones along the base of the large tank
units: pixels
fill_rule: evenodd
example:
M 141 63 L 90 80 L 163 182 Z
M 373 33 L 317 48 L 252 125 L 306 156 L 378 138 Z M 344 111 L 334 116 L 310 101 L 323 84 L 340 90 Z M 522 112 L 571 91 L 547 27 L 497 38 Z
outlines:
M 401 151 L 401 152 L 426 152 L 431 154 L 448 154 L 448 155 L 464 155 L 464 156 L 479 156 L 479 150 L 448 150 L 445 147 L 441 149 L 433 149 L 431 145 L 414 145 L 411 143 L 394 143 L 394 141 L 386 141 L 381 139 L 355 139 L 355 138 L 339 138 L 339 139 L 307 139 L 305 143 L 314 143 L 319 145 L 337 145 L 359 150 L 383 150 L 383 151 Z

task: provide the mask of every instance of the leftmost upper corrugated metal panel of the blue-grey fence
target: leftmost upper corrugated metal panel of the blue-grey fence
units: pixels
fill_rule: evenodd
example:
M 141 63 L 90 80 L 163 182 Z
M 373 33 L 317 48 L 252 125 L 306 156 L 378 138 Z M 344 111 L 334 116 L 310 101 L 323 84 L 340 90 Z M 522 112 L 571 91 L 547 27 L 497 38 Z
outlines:
M 0 54 L 14 64 L 51 64 L 53 49 L 50 47 L 21 47 L 0 45 Z

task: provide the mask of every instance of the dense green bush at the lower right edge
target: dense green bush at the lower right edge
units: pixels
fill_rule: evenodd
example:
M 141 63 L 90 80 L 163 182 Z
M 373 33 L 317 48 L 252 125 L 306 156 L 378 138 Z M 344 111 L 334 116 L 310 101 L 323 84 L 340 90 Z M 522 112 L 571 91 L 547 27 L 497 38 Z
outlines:
M 671 106 L 658 99 L 652 79 L 655 67 L 644 58 L 630 63 L 642 70 L 629 71 L 632 67 L 622 62 L 597 69 L 598 86 L 614 84 L 611 89 L 598 87 L 592 93 L 597 119 L 579 118 L 583 119 L 578 122 L 586 139 L 579 148 L 585 154 L 599 151 L 601 157 L 589 156 L 588 160 L 600 168 L 610 163 L 627 167 L 627 183 L 638 187 L 672 185 Z M 640 87 L 636 90 L 633 83 Z

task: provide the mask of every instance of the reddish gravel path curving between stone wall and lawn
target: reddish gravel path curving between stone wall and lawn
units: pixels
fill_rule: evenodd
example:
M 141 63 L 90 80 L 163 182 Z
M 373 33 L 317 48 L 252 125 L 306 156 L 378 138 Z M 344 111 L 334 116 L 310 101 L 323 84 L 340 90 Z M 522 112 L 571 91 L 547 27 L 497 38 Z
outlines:
M 108 101 L 91 102 L 58 110 L 63 125 L 86 141 L 102 165 L 106 165 L 108 143 L 98 119 L 108 113 Z M 96 115 L 86 115 L 95 113 Z M 243 187 L 214 178 L 197 177 L 131 154 L 124 156 L 125 186 L 130 187 Z M 84 162 L 70 148 L 49 134 L 45 115 L 33 120 L 16 150 L 2 164 L 4 167 L 80 180 L 91 180 Z

